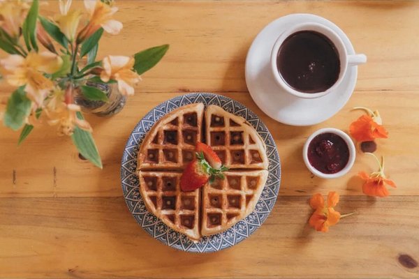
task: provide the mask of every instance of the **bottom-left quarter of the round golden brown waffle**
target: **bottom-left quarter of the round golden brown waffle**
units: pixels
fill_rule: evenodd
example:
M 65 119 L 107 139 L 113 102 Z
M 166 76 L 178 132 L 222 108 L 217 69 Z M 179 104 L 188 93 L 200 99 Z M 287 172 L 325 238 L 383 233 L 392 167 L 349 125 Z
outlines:
M 180 190 L 181 175 L 176 172 L 140 171 L 140 193 L 148 211 L 175 231 L 198 240 L 200 192 Z

